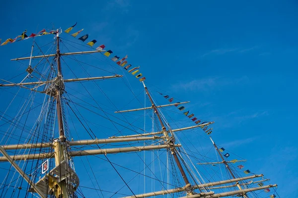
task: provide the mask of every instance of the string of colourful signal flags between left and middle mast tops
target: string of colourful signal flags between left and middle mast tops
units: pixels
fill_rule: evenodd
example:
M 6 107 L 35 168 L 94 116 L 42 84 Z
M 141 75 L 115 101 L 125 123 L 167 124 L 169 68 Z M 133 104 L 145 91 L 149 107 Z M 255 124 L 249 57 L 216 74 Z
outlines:
M 75 23 L 73 26 L 69 27 L 68 29 L 66 29 L 64 32 L 65 33 L 70 33 L 74 26 L 76 26 L 77 23 Z M 81 33 L 84 29 L 81 29 L 77 32 L 75 32 L 74 34 L 71 34 L 73 37 L 76 38 L 76 36 Z M 78 40 L 85 42 L 87 39 L 89 38 L 88 34 L 85 34 L 81 37 L 78 38 Z M 86 44 L 90 47 L 93 47 L 95 44 L 97 43 L 96 40 L 91 40 L 89 42 L 87 42 Z M 103 50 L 105 48 L 105 45 L 100 45 L 99 47 L 96 48 L 96 50 Z M 103 55 L 105 55 L 106 57 L 109 57 L 111 54 L 113 53 L 112 50 L 107 50 L 103 53 Z M 145 81 L 146 78 L 143 77 L 143 74 L 140 72 L 140 66 L 138 67 L 133 67 L 131 64 L 128 64 L 127 62 L 127 55 L 124 56 L 123 58 L 120 59 L 120 56 L 115 55 L 112 58 L 109 58 L 110 60 L 112 60 L 113 62 L 116 62 L 116 64 L 118 64 L 119 66 L 121 66 L 122 68 L 124 68 L 126 71 L 128 71 L 130 74 L 132 74 L 133 76 L 135 76 L 140 82 Z

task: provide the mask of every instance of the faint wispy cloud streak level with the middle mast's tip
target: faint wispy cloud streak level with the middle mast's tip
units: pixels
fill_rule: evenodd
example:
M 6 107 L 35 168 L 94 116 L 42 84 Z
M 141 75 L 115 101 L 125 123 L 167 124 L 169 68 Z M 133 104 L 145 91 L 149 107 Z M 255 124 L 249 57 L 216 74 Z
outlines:
M 207 90 L 213 90 L 215 88 L 220 88 L 231 84 L 246 83 L 248 81 L 249 79 L 247 76 L 242 76 L 241 78 L 236 78 L 236 79 L 210 76 L 203 79 L 196 79 L 196 80 L 191 80 L 189 82 L 180 82 L 178 84 L 173 84 L 172 87 L 175 88 L 175 90 L 207 91 Z

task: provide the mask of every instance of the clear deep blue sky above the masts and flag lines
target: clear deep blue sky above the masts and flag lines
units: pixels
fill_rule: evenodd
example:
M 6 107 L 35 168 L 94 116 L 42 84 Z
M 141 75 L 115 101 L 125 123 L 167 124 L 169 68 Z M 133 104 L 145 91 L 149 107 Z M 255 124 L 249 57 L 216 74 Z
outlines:
M 97 44 L 128 54 L 141 65 L 149 88 L 191 101 L 188 107 L 199 118 L 216 122 L 212 137 L 217 144 L 279 184 L 282 197 L 298 197 L 297 1 L 1 4 L 2 42 L 25 29 L 29 35 L 51 23 L 66 29 L 77 22 L 73 32 L 84 28 Z M 32 43 L 27 41 L 0 47 L 1 78 L 14 75 L 18 64 L 9 59 L 28 52 Z M 102 86 L 109 89 L 109 84 Z M 119 101 L 117 106 L 123 108 Z

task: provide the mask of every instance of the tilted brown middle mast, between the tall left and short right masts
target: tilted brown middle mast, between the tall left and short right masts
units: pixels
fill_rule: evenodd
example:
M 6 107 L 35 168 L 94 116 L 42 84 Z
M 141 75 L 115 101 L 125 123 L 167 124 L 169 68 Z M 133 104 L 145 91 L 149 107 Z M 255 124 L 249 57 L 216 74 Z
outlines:
M 163 135 L 164 135 L 164 137 L 165 137 L 165 140 L 166 140 L 168 143 L 170 143 L 170 142 L 174 143 L 175 140 L 173 139 L 173 137 L 169 137 L 168 131 L 166 130 L 166 128 L 165 128 L 165 126 L 164 126 L 164 124 L 163 124 L 163 122 L 162 122 L 162 120 L 161 120 L 161 117 L 160 117 L 160 115 L 159 115 L 159 112 L 158 112 L 158 110 L 157 110 L 157 108 L 156 108 L 156 106 L 155 106 L 155 104 L 154 104 L 154 102 L 153 102 L 153 100 L 152 100 L 152 98 L 151 98 L 151 96 L 150 96 L 150 94 L 149 94 L 149 91 L 148 91 L 148 89 L 147 89 L 147 87 L 146 87 L 144 81 L 143 81 L 143 85 L 144 85 L 146 94 L 148 95 L 149 100 L 150 100 L 150 102 L 151 102 L 151 104 L 152 104 L 152 109 L 153 109 L 154 112 L 156 113 L 156 116 L 157 116 L 157 118 L 158 118 L 158 121 L 159 121 L 159 123 L 160 123 L 160 125 L 161 125 L 161 129 L 162 129 L 162 131 L 163 131 Z M 186 176 L 186 174 L 185 174 L 185 172 L 184 172 L 184 170 L 183 170 L 183 168 L 182 168 L 182 165 L 181 165 L 181 163 L 180 163 L 180 161 L 179 161 L 179 159 L 178 159 L 178 157 L 177 157 L 177 149 L 176 149 L 175 147 L 171 147 L 170 149 L 171 149 L 171 154 L 173 155 L 173 157 L 174 157 L 174 159 L 175 159 L 175 162 L 176 162 L 176 164 L 177 164 L 177 166 L 178 166 L 178 168 L 179 168 L 179 171 L 180 171 L 180 173 L 181 173 L 181 175 L 182 175 L 182 178 L 183 178 L 183 180 L 184 180 L 184 182 L 185 182 L 185 188 L 186 188 L 186 189 L 187 189 L 187 188 L 190 188 L 190 187 L 191 187 L 191 184 L 189 183 L 189 181 L 188 181 L 188 179 L 187 179 L 187 176 Z M 188 192 L 187 192 L 187 195 L 188 195 L 188 196 L 193 195 L 192 191 L 191 191 L 191 190 L 188 191 Z

